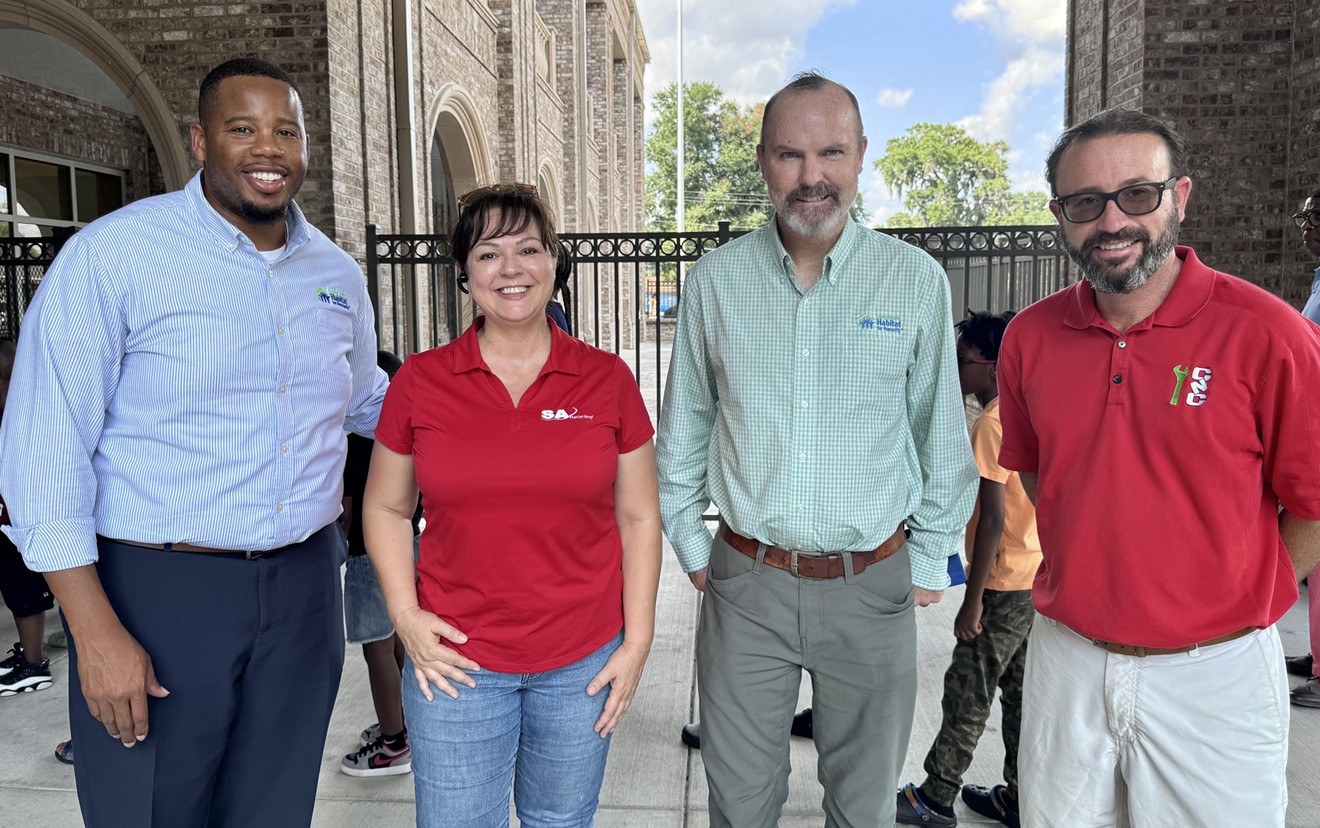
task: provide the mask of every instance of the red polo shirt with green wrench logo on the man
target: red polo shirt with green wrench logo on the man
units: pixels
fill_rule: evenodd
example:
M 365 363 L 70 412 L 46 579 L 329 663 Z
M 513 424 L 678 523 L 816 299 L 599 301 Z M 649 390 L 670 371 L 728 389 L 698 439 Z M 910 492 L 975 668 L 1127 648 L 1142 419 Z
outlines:
M 1125 334 L 1074 284 L 999 351 L 999 462 L 1039 474 L 1036 609 L 1092 638 L 1181 647 L 1298 597 L 1278 506 L 1320 519 L 1320 329 L 1191 248 Z

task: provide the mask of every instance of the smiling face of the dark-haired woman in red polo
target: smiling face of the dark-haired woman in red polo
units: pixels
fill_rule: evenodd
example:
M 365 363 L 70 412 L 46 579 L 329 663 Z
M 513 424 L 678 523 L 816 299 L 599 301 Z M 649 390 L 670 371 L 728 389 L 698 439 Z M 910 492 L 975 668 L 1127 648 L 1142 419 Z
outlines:
M 492 214 L 487 232 L 496 232 L 500 223 L 499 214 Z M 535 222 L 504 235 L 483 234 L 467 254 L 463 272 L 487 328 L 545 325 L 545 305 L 554 292 L 554 256 Z

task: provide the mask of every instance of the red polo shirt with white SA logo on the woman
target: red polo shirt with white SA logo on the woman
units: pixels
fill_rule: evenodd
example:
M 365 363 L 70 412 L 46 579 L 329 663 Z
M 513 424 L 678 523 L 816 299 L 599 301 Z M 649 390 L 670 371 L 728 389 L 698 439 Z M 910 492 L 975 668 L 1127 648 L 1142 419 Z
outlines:
M 408 358 L 376 440 L 416 465 L 421 607 L 466 633 L 454 648 L 482 667 L 543 672 L 623 626 L 614 481 L 619 454 L 655 429 L 623 361 L 553 325 L 515 408 L 482 359 L 480 325 Z

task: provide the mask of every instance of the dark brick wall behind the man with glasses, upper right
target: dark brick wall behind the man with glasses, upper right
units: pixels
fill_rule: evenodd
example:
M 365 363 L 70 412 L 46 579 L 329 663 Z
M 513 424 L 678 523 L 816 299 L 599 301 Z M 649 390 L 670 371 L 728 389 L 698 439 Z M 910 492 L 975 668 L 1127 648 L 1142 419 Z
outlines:
M 1183 240 L 1300 305 L 1313 265 L 1287 217 L 1320 184 L 1317 50 L 1303 0 L 1071 0 L 1067 118 L 1171 121 L 1195 181 Z

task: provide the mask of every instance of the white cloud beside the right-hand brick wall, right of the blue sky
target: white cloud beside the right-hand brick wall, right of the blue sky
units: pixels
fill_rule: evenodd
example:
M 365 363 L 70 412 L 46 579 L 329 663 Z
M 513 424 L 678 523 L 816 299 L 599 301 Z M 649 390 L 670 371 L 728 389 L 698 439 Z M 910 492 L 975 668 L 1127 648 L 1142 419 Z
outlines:
M 986 85 L 981 110 L 958 121 L 981 140 L 1007 137 L 1022 111 L 1041 88 L 1060 85 L 1064 74 L 1067 15 L 1059 0 L 961 0 L 953 16 L 987 26 L 1003 54 L 1018 55 Z

